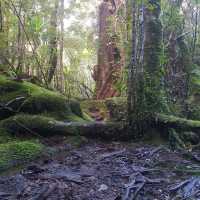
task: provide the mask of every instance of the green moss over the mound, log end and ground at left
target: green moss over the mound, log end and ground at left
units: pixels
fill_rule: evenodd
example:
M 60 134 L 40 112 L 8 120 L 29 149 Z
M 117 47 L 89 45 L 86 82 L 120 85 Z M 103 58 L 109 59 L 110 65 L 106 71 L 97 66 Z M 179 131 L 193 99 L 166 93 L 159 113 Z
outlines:
M 0 170 L 31 161 L 41 154 L 43 146 L 32 138 L 65 134 L 63 121 L 82 123 L 91 120 L 77 101 L 2 75 L 0 96 Z M 69 129 L 70 133 L 78 134 L 76 127 Z

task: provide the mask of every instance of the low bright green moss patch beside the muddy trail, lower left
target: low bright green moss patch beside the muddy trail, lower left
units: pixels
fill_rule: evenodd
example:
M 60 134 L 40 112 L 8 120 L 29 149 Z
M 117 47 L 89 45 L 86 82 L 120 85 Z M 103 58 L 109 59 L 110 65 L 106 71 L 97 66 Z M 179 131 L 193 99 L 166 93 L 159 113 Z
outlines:
M 33 141 L 0 144 L 0 170 L 33 160 L 39 156 L 42 149 L 43 146 L 40 143 Z

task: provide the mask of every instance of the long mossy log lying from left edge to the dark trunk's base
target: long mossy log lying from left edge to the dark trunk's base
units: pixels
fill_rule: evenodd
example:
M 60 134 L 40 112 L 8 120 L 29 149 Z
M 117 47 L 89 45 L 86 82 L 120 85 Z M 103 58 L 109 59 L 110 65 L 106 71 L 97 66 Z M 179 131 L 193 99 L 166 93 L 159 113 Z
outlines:
M 40 115 L 16 115 L 0 122 L 0 128 L 17 136 L 81 135 L 105 140 L 131 138 L 122 123 L 61 122 Z

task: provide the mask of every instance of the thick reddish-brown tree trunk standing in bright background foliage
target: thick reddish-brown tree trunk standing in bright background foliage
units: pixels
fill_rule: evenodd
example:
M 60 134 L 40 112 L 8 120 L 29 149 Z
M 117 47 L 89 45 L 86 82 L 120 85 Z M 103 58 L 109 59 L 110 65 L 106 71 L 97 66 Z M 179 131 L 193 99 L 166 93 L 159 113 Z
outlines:
M 122 59 L 117 47 L 113 16 L 121 1 L 104 1 L 99 8 L 99 50 L 98 65 L 94 68 L 93 78 L 96 81 L 96 98 L 105 99 L 117 96 L 115 83 L 120 77 Z

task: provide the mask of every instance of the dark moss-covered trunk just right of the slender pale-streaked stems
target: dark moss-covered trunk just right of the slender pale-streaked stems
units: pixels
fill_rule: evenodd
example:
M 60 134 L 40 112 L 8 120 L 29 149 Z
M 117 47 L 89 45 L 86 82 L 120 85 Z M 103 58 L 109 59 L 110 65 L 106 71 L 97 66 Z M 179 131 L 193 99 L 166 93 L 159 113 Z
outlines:
M 158 111 L 161 103 L 160 0 L 149 0 L 144 9 L 144 101 L 147 112 Z

